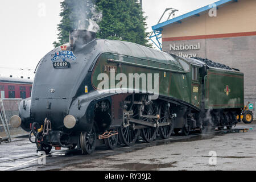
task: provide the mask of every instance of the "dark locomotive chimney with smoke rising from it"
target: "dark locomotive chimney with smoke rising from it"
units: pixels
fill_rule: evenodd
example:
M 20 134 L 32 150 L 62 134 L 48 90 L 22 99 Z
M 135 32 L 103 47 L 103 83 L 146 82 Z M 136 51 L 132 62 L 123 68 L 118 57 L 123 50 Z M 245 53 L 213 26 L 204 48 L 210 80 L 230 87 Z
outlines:
M 88 30 L 72 30 L 69 32 L 69 43 L 71 49 L 82 47 L 96 38 L 96 32 Z

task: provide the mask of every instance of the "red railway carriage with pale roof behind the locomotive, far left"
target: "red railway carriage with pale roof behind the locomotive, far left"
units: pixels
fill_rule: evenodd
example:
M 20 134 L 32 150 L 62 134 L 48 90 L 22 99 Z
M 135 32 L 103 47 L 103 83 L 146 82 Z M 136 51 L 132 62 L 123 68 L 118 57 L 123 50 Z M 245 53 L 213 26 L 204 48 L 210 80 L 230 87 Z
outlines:
M 31 96 L 32 83 L 29 77 L 0 77 L 0 97 L 28 98 Z

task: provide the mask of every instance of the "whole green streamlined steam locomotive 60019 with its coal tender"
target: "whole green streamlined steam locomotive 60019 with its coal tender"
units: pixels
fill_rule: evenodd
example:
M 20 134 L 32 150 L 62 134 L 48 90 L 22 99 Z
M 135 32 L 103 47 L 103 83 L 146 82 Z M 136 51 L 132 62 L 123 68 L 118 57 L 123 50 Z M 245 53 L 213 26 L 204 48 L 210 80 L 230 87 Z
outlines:
M 98 144 L 132 146 L 173 133 L 219 130 L 240 122 L 243 73 L 138 44 L 74 30 L 40 60 L 31 98 L 10 123 L 30 131 L 38 150 Z M 128 81 L 127 81 L 128 80 Z M 35 139 L 32 138 L 34 134 Z

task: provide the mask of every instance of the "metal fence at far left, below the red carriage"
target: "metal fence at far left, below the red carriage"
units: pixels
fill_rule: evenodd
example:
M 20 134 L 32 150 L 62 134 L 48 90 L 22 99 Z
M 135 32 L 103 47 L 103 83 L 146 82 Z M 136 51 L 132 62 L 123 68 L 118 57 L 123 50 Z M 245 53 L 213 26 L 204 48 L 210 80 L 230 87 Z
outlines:
M 1 98 L 0 99 L 0 137 L 8 139 L 11 142 L 11 138 L 28 133 L 21 127 L 15 129 L 10 126 L 9 120 L 13 115 L 19 115 L 19 104 L 22 99 L 17 98 Z

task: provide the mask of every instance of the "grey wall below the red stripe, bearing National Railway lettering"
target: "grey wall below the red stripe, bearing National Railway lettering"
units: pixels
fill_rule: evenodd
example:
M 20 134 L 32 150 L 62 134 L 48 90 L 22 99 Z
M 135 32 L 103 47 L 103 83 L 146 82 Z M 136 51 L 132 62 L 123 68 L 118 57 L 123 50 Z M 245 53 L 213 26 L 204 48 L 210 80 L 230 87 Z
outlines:
M 197 44 L 200 49 L 170 51 L 170 44 Z M 229 67 L 240 69 L 245 75 L 245 104 L 256 102 L 256 36 L 234 38 L 197 39 L 163 42 L 163 51 L 178 55 L 196 53 L 199 57 L 207 57 Z

